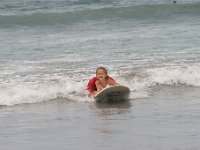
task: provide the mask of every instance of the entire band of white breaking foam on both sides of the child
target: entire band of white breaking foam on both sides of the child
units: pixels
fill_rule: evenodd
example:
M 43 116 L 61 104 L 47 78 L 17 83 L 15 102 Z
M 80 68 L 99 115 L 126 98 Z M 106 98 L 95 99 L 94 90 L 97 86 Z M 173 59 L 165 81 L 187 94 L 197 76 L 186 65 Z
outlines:
M 117 73 L 112 75 L 118 83 L 131 89 L 130 99 L 135 99 L 149 97 L 157 85 L 199 87 L 199 74 L 200 67 L 194 65 L 149 68 L 134 74 L 126 72 L 122 76 L 118 76 Z M 90 77 L 79 77 L 69 77 L 65 74 L 36 74 L 2 79 L 0 105 L 37 103 L 59 97 L 79 102 L 94 101 L 87 96 L 86 86 Z

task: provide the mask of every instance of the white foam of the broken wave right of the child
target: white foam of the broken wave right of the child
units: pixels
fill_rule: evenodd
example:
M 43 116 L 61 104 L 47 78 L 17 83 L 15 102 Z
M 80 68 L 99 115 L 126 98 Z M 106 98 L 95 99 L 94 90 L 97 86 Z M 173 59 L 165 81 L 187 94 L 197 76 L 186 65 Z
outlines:
M 147 98 L 157 85 L 200 87 L 200 66 L 168 66 L 144 69 L 121 79 L 131 89 L 130 98 Z

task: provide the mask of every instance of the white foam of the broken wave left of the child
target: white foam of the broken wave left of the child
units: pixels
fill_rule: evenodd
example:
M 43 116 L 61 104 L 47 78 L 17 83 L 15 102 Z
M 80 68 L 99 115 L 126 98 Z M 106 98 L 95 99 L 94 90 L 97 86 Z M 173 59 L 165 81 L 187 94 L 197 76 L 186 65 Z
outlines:
M 85 82 L 68 77 L 29 76 L 1 81 L 0 105 L 16 105 L 52 100 L 58 97 L 79 101 L 87 95 Z M 85 99 L 85 101 L 89 99 Z M 81 100 L 80 100 L 81 101 Z

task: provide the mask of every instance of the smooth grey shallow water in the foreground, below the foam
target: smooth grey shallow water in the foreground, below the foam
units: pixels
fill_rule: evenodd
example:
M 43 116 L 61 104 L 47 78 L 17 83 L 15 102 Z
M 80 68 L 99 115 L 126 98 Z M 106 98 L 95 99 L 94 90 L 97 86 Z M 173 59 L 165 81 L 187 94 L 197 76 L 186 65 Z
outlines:
M 56 99 L 1 107 L 0 148 L 199 149 L 199 89 L 164 89 L 124 103 Z

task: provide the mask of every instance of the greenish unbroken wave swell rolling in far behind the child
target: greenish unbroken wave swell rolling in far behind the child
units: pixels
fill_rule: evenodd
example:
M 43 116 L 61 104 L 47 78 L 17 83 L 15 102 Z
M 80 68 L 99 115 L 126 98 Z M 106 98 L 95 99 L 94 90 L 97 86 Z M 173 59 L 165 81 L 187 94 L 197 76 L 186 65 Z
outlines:
M 21 15 L 0 15 L 2 25 L 51 25 L 71 24 L 87 20 L 105 19 L 159 19 L 166 20 L 181 15 L 199 16 L 200 4 L 180 4 L 176 7 L 169 4 L 138 5 L 138 6 L 110 6 L 96 9 L 55 11 L 55 12 L 33 12 Z M 154 20 L 155 21 L 155 20 Z

